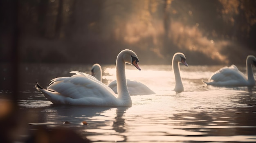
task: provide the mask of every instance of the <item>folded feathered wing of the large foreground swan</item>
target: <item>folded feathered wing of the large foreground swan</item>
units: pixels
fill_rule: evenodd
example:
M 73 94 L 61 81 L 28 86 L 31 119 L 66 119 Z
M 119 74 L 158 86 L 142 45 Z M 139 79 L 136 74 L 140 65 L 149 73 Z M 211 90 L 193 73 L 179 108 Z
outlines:
M 47 90 L 58 92 L 60 95 L 72 99 L 115 97 L 116 94 L 95 77 L 78 71 L 71 73 L 76 73 L 76 75 L 52 79 Z

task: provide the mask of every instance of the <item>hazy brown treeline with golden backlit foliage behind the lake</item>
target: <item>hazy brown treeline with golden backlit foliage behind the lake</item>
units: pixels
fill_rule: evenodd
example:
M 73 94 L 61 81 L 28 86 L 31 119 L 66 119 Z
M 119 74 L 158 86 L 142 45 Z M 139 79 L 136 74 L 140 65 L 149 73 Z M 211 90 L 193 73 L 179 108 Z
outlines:
M 18 0 L 13 9 L 21 62 L 115 64 L 125 48 L 143 64 L 171 64 L 175 52 L 189 64 L 256 55 L 255 0 Z M 0 46 L 4 60 L 10 51 Z

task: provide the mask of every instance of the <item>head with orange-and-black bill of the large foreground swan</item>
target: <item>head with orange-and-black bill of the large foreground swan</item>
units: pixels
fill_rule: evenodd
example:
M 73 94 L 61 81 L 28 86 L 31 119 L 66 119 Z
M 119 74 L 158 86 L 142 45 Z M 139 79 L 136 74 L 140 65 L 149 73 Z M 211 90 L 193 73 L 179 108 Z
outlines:
M 131 64 L 135 66 L 138 70 L 141 70 L 138 64 L 139 59 L 135 52 L 128 49 L 123 50 L 118 54 L 117 59 L 119 58 L 122 58 L 125 63 Z

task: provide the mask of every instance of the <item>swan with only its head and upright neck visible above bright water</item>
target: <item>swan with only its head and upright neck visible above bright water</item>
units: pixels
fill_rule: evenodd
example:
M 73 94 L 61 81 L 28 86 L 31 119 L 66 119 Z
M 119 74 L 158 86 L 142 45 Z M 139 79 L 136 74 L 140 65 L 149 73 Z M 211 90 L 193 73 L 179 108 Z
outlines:
M 175 92 L 184 91 L 182 79 L 180 77 L 180 62 L 182 64 L 184 64 L 185 66 L 189 66 L 186 63 L 186 57 L 183 53 L 175 53 L 173 55 L 173 60 L 172 60 L 172 67 L 173 67 L 173 72 L 174 72 L 174 76 L 175 76 L 175 88 L 173 89 L 173 91 L 175 91 Z

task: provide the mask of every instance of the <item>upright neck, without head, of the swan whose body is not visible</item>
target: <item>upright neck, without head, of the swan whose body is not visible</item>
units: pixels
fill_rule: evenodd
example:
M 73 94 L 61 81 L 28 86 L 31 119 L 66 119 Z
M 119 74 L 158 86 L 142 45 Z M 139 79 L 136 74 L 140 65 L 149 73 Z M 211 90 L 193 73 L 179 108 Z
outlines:
M 175 76 L 174 91 L 182 92 L 182 91 L 184 91 L 184 88 L 183 88 L 183 84 L 182 84 L 182 79 L 180 77 L 180 63 L 172 61 L 172 67 L 173 67 L 173 72 L 174 72 L 174 76 Z

